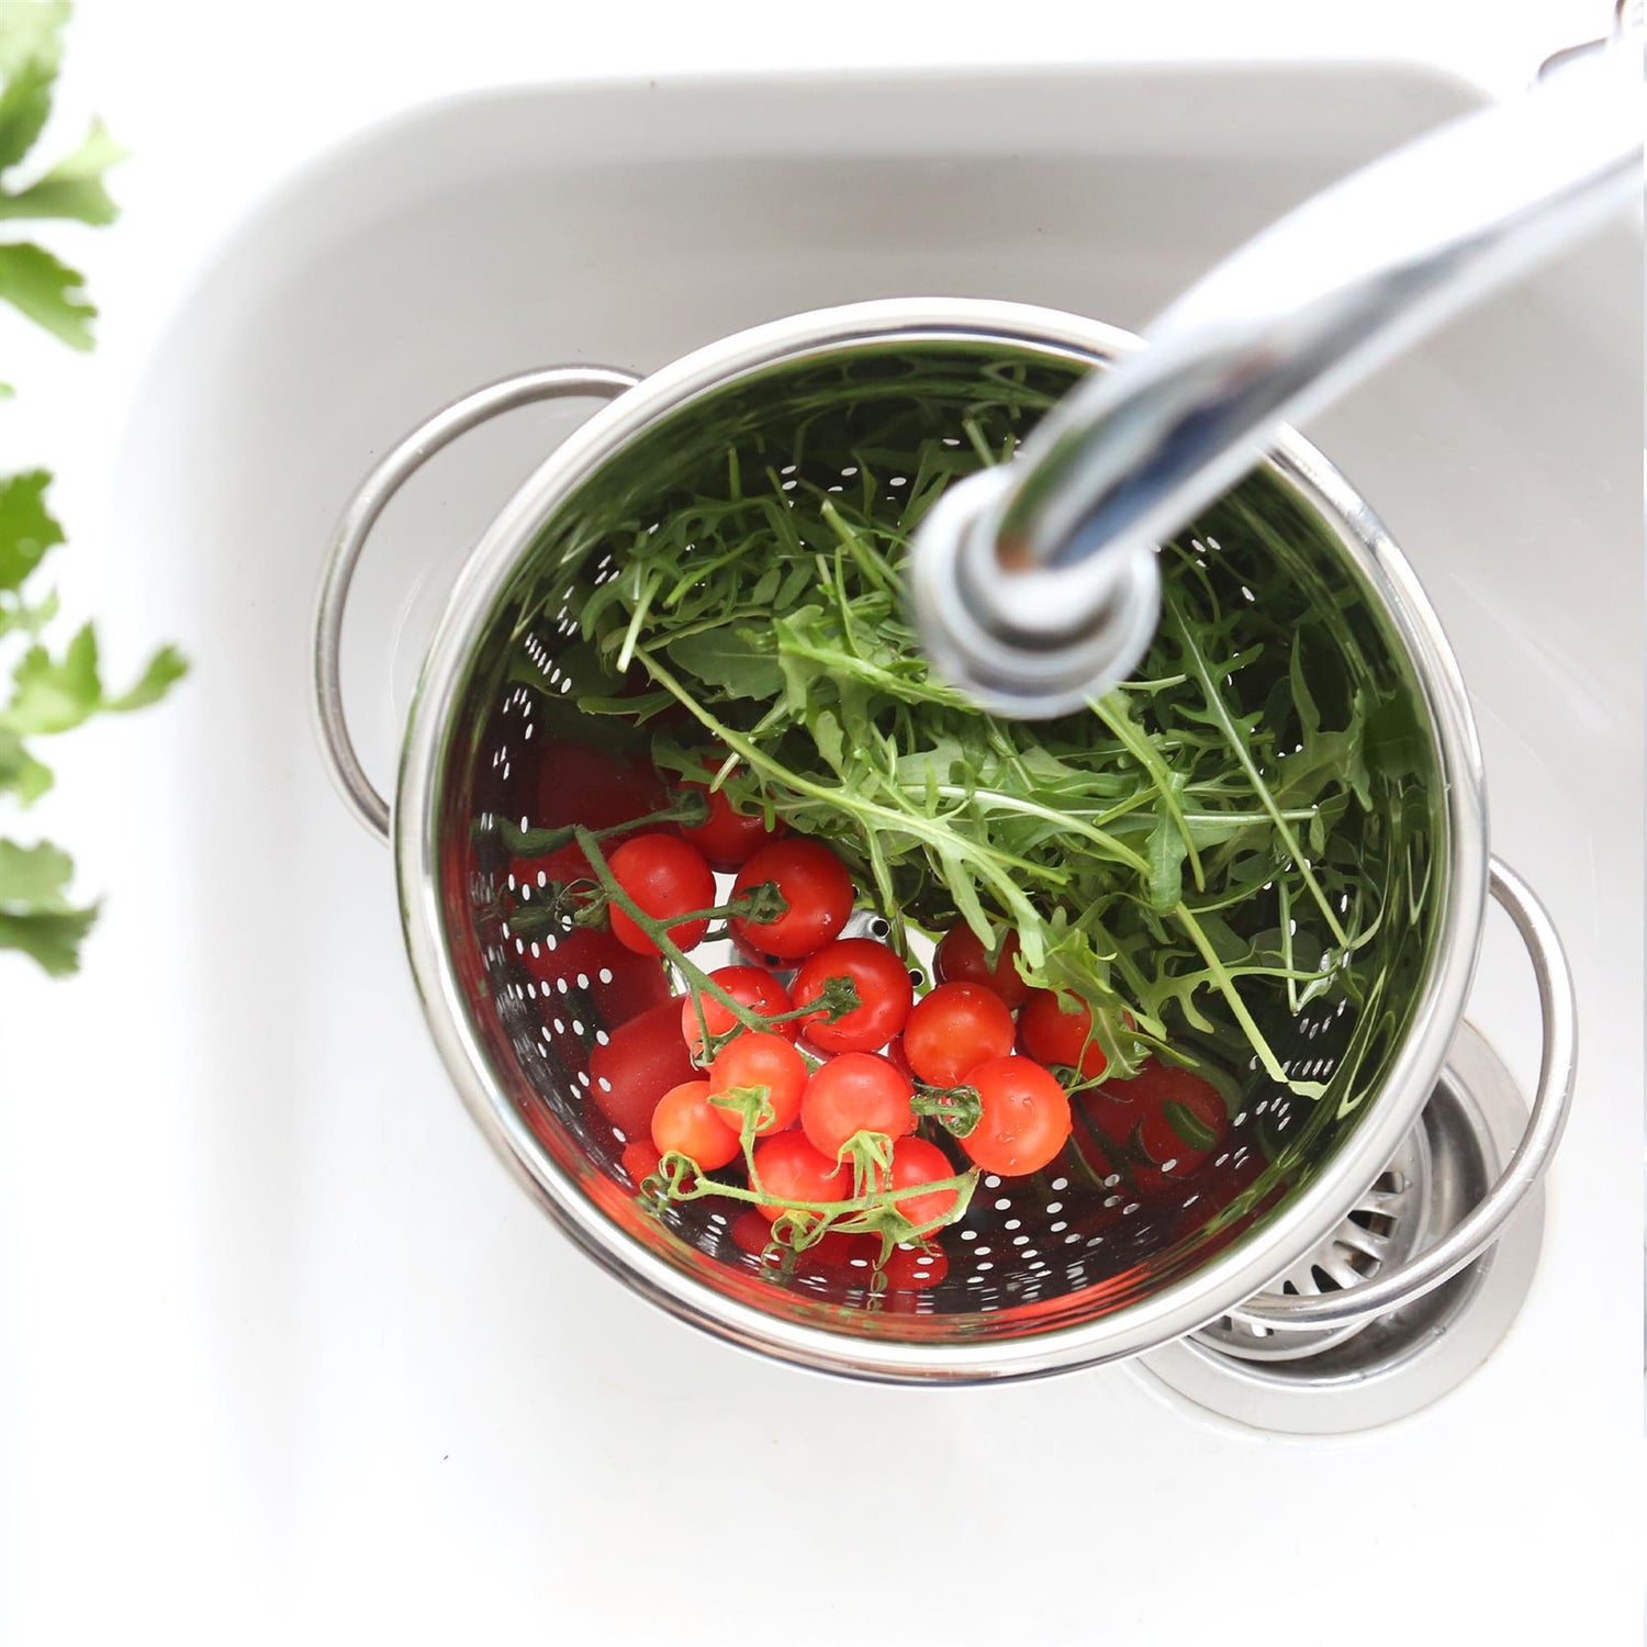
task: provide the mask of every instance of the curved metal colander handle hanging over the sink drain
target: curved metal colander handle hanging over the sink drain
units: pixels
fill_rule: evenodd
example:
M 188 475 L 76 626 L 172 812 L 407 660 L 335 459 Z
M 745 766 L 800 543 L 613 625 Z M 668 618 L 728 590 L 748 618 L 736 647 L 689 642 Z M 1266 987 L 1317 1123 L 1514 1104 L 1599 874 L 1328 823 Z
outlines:
M 1538 1015 L 1543 1029 L 1538 1092 L 1515 1155 L 1492 1189 L 1449 1235 L 1400 1268 L 1380 1275 L 1375 1281 L 1313 1298 L 1285 1295 L 1252 1298 L 1240 1309 L 1230 1311 L 1242 1324 L 1268 1327 L 1273 1332 L 1303 1332 L 1359 1326 L 1375 1316 L 1402 1309 L 1479 1258 L 1497 1240 L 1527 1191 L 1543 1178 L 1550 1156 L 1561 1141 L 1561 1130 L 1566 1127 L 1573 1102 L 1573 1075 L 1578 1066 L 1578 1001 L 1573 993 L 1573 970 L 1543 904 L 1527 883 L 1497 858 L 1492 860 L 1489 886 L 1527 945 L 1538 983 Z

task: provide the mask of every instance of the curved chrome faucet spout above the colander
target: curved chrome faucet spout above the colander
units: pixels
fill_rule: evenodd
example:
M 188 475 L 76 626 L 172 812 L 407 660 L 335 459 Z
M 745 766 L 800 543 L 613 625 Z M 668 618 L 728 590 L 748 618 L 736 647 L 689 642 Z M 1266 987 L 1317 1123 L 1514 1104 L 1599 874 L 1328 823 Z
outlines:
M 1148 649 L 1155 545 L 1309 417 L 1642 193 L 1642 54 L 1591 53 L 1354 173 L 1219 264 L 1145 348 L 916 539 L 934 667 L 996 713 L 1067 713 Z

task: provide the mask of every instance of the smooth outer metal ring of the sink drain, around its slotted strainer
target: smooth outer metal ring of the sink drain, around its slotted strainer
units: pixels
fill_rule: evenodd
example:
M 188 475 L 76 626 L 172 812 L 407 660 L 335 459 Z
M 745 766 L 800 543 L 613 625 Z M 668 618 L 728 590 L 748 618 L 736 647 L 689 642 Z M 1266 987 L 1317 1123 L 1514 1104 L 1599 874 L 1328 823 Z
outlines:
M 1430 1183 L 1416 1250 L 1446 1235 L 1479 1201 L 1525 1122 L 1515 1079 L 1463 1024 L 1420 1120 Z M 1537 1187 L 1467 1270 L 1360 1331 L 1331 1334 L 1314 1354 L 1230 1354 L 1227 1334 L 1214 1327 L 1133 1365 L 1173 1397 L 1252 1430 L 1347 1435 L 1393 1423 L 1441 1400 L 1502 1342 L 1532 1286 L 1543 1220 Z

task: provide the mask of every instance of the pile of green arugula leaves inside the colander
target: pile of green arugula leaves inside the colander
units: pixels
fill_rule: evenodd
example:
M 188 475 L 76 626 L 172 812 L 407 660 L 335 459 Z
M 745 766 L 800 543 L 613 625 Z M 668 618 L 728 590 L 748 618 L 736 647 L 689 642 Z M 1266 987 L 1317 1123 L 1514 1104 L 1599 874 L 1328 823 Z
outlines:
M 1275 1043 L 1306 1001 L 1365 1016 L 1388 987 L 1359 957 L 1421 858 L 1388 807 L 1425 759 L 1415 693 L 1367 662 L 1351 593 L 1299 572 L 1290 534 L 1319 524 L 1257 478 L 1161 550 L 1133 680 L 1057 721 L 978 713 L 929 672 L 903 573 L 932 501 L 1038 408 L 1011 374 L 995 392 L 1011 415 L 959 436 L 725 451 L 656 514 L 547 555 L 522 631 L 558 624 L 572 705 L 647 735 L 660 769 L 828 840 L 906 954 L 957 916 L 987 945 L 1016 929 L 1024 977 L 1087 1005 L 1110 1074 L 1171 1047 L 1318 1097 Z

